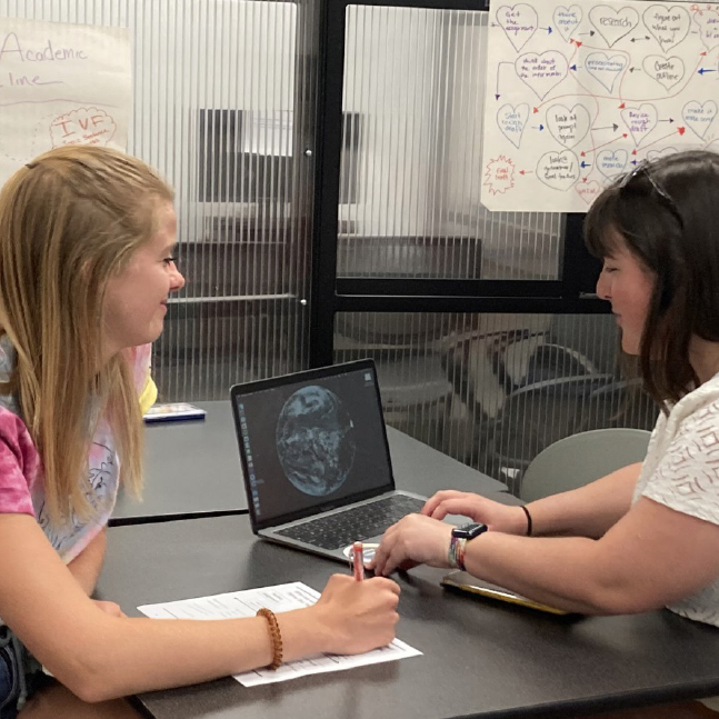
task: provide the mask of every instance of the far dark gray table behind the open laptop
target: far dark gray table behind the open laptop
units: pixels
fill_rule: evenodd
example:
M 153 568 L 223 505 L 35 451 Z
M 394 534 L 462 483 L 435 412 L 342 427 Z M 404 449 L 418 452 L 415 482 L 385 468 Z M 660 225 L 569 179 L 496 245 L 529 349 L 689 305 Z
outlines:
M 207 410 L 203 421 L 148 426 L 144 499 L 120 493 L 111 523 L 248 511 L 230 402 L 199 406 Z M 399 489 L 427 496 L 446 487 L 480 493 L 507 489 L 391 427 L 387 436 Z

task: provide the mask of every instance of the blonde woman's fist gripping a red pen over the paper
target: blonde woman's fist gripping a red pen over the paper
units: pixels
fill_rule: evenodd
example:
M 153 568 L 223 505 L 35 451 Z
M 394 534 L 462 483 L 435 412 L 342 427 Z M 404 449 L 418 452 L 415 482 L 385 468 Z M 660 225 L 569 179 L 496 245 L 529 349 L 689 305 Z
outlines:
M 399 620 L 399 591 L 397 582 L 383 577 L 357 581 L 332 575 L 312 608 L 327 636 L 324 651 L 358 655 L 389 645 Z

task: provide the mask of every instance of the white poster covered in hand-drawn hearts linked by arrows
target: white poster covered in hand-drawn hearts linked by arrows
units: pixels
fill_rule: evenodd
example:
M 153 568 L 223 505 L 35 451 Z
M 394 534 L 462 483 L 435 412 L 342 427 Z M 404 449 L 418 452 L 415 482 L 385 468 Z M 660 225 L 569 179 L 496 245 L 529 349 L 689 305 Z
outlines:
M 481 201 L 582 212 L 645 158 L 719 152 L 719 4 L 495 0 Z

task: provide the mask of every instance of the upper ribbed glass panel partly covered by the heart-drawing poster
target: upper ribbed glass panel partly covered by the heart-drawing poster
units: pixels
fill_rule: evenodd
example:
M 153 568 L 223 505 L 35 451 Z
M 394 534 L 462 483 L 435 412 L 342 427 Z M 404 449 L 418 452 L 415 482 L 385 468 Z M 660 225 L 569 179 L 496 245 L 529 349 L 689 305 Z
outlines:
M 562 216 L 479 202 L 487 13 L 349 6 L 340 277 L 560 279 Z

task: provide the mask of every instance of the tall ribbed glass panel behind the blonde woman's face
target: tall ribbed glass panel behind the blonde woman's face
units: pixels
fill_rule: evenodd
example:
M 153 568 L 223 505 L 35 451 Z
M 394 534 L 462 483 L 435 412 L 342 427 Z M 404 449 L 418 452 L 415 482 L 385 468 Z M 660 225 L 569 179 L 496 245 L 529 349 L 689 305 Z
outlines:
M 187 277 L 154 375 L 163 399 L 307 365 L 314 4 L 0 0 L 0 17 L 130 29 L 128 151 L 176 188 Z

